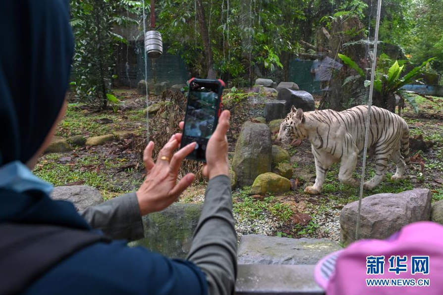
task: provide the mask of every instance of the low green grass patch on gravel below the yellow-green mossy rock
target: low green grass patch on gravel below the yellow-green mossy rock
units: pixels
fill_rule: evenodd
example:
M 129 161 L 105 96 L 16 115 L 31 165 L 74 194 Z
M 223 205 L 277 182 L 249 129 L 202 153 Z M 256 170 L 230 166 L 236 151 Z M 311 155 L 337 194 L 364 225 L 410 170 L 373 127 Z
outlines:
M 293 214 L 287 204 L 278 202 L 275 197 L 265 197 L 264 200 L 256 200 L 248 197 L 251 188 L 245 187 L 239 193 L 234 193 L 233 197 L 240 200 L 233 205 L 234 213 L 238 213 L 242 219 L 262 219 L 263 213 L 268 212 L 276 216 L 279 220 L 286 221 Z

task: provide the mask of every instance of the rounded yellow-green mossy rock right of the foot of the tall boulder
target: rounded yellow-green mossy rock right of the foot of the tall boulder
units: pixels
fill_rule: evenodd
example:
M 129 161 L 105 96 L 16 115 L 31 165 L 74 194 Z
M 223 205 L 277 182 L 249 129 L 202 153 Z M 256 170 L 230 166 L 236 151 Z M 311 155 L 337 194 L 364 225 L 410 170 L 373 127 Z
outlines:
M 275 173 L 268 172 L 257 176 L 252 184 L 251 194 L 280 194 L 289 191 L 290 188 L 291 183 L 289 179 Z

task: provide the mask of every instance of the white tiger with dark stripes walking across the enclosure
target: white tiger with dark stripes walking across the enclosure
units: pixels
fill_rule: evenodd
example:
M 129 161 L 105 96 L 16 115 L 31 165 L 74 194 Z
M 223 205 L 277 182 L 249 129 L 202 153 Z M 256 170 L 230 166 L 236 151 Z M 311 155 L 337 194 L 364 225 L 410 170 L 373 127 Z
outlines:
M 338 179 L 344 184 L 358 186 L 359 181 L 352 177 L 357 165 L 358 153 L 365 141 L 365 124 L 368 117 L 368 106 L 359 105 L 337 112 L 331 109 L 303 113 L 294 106 L 281 122 L 277 140 L 287 145 L 295 139 L 307 139 L 312 146 L 315 159 L 316 179 L 312 187 L 305 192 L 320 194 L 326 173 L 332 163 L 340 161 Z M 375 148 L 376 173 L 364 183 L 364 188 L 372 190 L 386 178 L 388 161 L 391 159 L 397 166 L 392 180 L 403 178 L 406 165 L 412 169 L 409 159 L 409 128 L 398 115 L 373 106 L 368 147 Z M 400 154 L 404 155 L 404 159 Z

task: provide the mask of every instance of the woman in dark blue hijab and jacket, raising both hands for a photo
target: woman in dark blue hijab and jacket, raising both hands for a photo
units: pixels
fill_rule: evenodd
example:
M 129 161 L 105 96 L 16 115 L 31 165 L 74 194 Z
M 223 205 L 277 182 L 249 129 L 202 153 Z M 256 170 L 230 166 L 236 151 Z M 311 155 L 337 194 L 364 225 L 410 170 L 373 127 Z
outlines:
M 231 294 L 236 234 L 227 176 L 229 112 L 222 112 L 208 143 L 206 200 L 187 259 L 108 239 L 92 228 L 139 238 L 141 215 L 166 208 L 192 183 L 192 174 L 176 180 L 195 144 L 174 153 L 176 134 L 154 163 L 150 143 L 140 189 L 83 216 L 72 203 L 52 200 L 52 186 L 30 170 L 63 117 L 73 52 L 68 1 L 1 1 L 0 11 L 0 294 Z

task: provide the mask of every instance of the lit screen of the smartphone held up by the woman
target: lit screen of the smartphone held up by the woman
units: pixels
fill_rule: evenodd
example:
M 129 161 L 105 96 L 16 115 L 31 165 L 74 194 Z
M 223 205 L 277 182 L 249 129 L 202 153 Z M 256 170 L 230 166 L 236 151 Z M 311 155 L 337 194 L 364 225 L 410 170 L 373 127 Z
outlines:
M 185 134 L 209 139 L 214 132 L 218 93 L 205 87 L 191 89 L 186 109 Z

